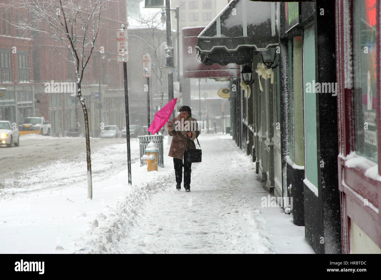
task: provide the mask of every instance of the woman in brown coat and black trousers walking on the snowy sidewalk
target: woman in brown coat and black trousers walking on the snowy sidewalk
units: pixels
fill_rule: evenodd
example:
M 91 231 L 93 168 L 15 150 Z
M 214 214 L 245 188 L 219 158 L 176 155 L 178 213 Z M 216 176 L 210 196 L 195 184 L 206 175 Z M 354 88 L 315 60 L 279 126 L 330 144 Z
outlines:
M 196 149 L 194 139 L 200 134 L 195 118 L 189 106 L 182 106 L 180 114 L 168 122 L 168 134 L 173 136 L 168 156 L 173 157 L 174 174 L 176 176 L 176 189 L 181 189 L 182 168 L 184 167 L 184 189 L 191 191 L 192 163 L 186 160 L 187 150 Z M 183 161 L 184 160 L 184 161 Z

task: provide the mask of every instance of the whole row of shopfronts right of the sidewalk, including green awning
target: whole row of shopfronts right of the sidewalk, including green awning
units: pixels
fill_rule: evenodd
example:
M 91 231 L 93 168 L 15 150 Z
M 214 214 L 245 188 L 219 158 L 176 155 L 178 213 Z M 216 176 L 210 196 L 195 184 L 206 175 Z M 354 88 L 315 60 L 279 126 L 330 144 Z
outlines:
M 252 69 L 230 79 L 233 139 L 316 253 L 380 253 L 379 15 L 379 1 L 233 0 L 198 37 L 205 65 Z

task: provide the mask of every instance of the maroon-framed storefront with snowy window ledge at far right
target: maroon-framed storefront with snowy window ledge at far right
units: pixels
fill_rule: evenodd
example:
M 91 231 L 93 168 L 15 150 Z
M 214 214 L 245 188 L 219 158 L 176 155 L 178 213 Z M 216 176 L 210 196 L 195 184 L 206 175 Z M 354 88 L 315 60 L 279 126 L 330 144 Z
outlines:
M 381 2 L 335 1 L 343 253 L 381 253 Z

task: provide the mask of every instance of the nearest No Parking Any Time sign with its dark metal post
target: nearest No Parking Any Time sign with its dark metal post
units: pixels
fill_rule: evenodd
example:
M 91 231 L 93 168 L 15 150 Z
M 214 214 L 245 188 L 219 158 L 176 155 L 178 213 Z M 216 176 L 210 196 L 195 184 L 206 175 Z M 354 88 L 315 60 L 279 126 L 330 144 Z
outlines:
M 128 33 L 124 29 L 117 30 L 117 61 L 123 62 L 123 76 L 124 76 L 124 99 L 126 104 L 126 140 L 127 140 L 127 166 L 128 166 L 128 184 L 131 186 L 131 146 L 130 146 L 130 115 L 128 113 L 128 82 L 127 82 L 127 62 L 128 61 Z M 121 53 L 121 55 L 119 54 Z M 118 56 L 122 56 L 118 59 Z

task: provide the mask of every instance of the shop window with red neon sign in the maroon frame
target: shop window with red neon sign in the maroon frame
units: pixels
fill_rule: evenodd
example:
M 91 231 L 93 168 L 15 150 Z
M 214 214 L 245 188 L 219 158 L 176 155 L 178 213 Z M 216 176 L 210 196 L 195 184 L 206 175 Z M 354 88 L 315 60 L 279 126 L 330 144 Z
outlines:
M 353 4 L 353 73 L 356 153 L 377 163 L 377 34 L 375 0 Z

